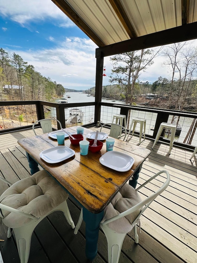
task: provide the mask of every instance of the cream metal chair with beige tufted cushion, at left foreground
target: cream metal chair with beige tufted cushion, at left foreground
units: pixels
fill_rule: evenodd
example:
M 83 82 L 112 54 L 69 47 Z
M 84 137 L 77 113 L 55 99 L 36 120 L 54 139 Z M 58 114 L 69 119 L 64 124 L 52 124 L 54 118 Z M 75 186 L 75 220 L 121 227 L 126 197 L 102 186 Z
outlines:
M 74 228 L 66 199 L 66 191 L 44 170 L 14 184 L 0 176 L 10 187 L 0 196 L 0 217 L 13 229 L 21 263 L 27 263 L 34 228 L 50 213 L 61 210 Z

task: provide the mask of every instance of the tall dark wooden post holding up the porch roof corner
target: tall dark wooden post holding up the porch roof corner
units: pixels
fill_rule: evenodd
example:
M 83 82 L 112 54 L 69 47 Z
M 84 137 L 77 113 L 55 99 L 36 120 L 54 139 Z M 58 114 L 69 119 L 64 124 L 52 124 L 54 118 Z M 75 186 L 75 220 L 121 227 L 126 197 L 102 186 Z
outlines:
M 96 83 L 95 83 L 95 112 L 94 121 L 100 121 L 101 117 L 101 99 L 102 99 L 102 84 L 103 84 L 103 61 L 104 57 L 101 52 L 96 49 Z

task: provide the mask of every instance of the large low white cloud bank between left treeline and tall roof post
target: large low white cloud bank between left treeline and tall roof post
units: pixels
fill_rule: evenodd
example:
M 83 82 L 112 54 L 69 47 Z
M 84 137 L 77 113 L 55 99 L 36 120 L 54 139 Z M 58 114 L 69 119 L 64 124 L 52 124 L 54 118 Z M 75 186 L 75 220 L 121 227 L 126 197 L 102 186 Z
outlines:
M 28 50 L 10 48 L 42 76 L 65 88 L 88 89 L 95 86 L 95 48 L 87 39 L 69 38 L 54 49 Z M 87 80 L 88 78 L 88 80 Z

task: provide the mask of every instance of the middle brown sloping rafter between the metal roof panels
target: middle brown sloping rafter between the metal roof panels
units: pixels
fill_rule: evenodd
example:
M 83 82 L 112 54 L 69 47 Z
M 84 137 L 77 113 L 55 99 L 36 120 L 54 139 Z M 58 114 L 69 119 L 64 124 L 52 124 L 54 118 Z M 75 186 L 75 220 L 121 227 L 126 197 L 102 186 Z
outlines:
M 127 34 L 130 38 L 137 37 L 137 34 L 125 12 L 125 9 L 120 0 L 109 0 L 111 6 L 113 7 L 115 13 L 117 14 L 120 22 L 122 23 L 123 27 L 127 31 Z

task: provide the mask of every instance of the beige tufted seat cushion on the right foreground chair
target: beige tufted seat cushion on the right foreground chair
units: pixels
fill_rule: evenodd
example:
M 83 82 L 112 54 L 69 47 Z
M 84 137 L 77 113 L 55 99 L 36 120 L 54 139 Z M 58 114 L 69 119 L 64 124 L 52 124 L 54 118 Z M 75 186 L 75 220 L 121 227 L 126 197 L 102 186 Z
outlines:
M 123 185 L 123 187 L 121 187 L 120 191 L 117 193 L 117 195 L 115 195 L 111 203 L 109 203 L 109 205 L 105 208 L 104 217 L 101 222 L 119 215 L 120 213 L 128 210 L 129 208 L 135 206 L 137 203 L 140 202 L 141 198 L 138 192 L 132 186 L 126 183 L 125 185 Z M 132 225 L 132 222 L 135 220 L 140 212 L 141 209 L 138 209 L 128 216 L 108 223 L 107 227 L 118 233 L 128 233 L 134 227 L 134 225 Z

